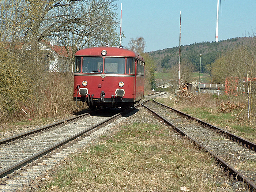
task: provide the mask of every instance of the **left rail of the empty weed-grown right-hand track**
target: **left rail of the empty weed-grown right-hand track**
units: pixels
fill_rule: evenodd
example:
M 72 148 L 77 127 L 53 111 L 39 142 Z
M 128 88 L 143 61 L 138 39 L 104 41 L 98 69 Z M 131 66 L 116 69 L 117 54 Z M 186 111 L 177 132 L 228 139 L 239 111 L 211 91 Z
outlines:
M 161 103 L 160 103 L 161 104 Z M 185 138 L 188 138 L 193 143 L 196 144 L 202 151 L 205 151 L 206 153 L 210 154 L 227 172 L 230 176 L 233 176 L 234 179 L 240 180 L 245 182 L 248 185 L 248 188 L 251 192 L 256 192 L 256 185 L 253 184 L 252 181 L 250 181 L 248 178 L 246 178 L 244 175 L 242 175 L 240 172 L 238 172 L 236 169 L 234 169 L 232 166 L 230 166 L 228 163 L 226 163 L 223 159 L 212 153 L 211 151 L 208 151 L 206 148 L 204 148 L 200 143 L 197 143 L 194 139 L 192 139 L 190 136 L 188 136 L 185 132 L 181 131 L 178 127 L 176 127 L 174 124 L 172 124 L 170 121 L 159 115 L 158 113 L 154 112 L 152 109 L 148 108 L 146 105 L 141 104 L 144 108 L 146 108 L 148 111 L 153 113 L 155 116 L 157 116 L 160 120 L 165 122 L 167 125 L 171 126 L 176 132 L 178 132 L 180 135 L 184 136 Z M 169 107 L 168 107 L 169 108 Z M 178 110 L 174 110 L 179 112 Z M 184 113 L 185 114 L 185 113 Z

